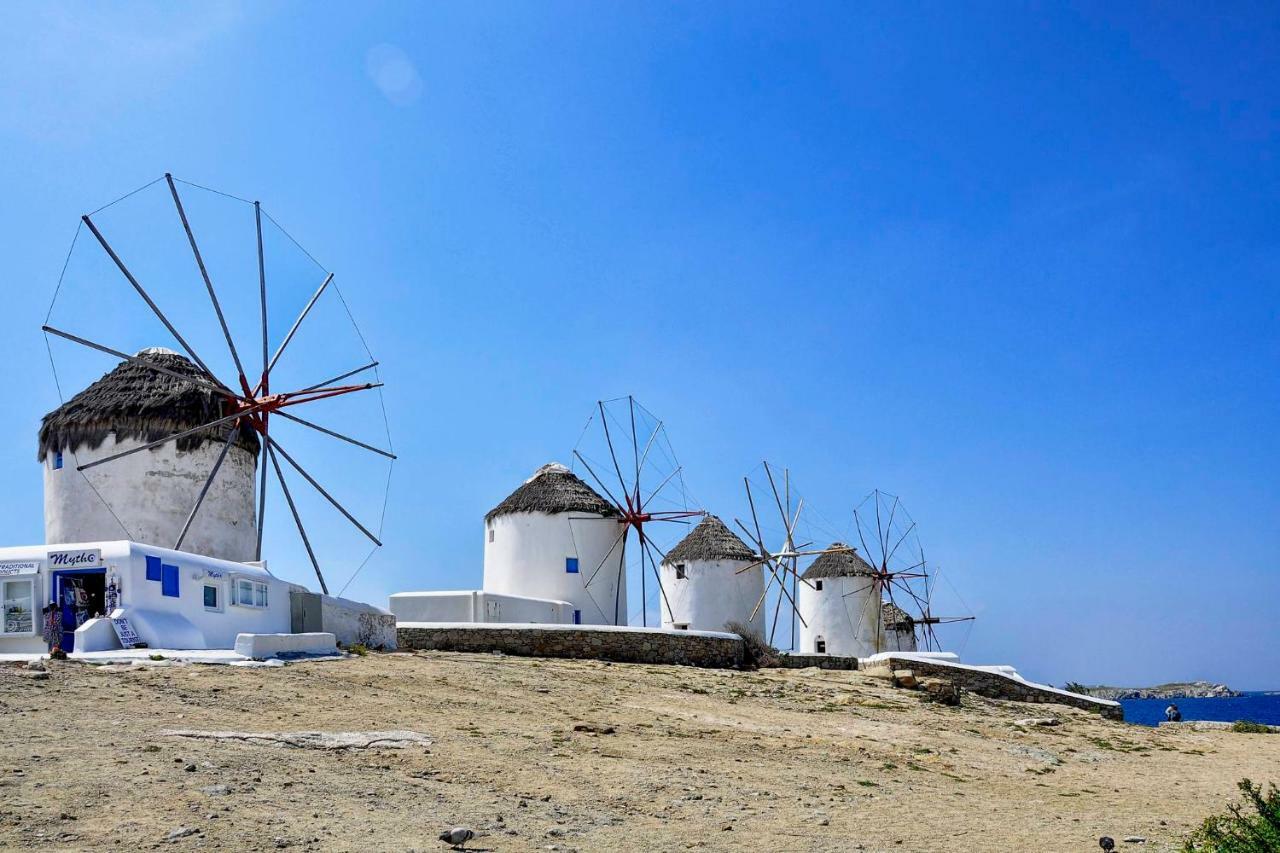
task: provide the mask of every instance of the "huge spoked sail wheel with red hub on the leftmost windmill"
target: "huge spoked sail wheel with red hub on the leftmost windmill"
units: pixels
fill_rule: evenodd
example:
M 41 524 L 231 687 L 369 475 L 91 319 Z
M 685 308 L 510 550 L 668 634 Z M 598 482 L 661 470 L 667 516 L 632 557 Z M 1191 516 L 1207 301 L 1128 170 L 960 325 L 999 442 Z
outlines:
M 193 196 L 197 199 L 195 207 L 200 207 L 198 215 L 192 215 Z M 207 224 L 212 238 L 197 241 L 193 222 Z M 282 284 L 283 297 L 270 291 L 269 284 L 275 282 Z M 282 301 L 293 304 L 282 311 Z M 55 314 L 59 315 L 58 325 Z M 282 321 L 289 324 L 287 330 Z M 252 333 L 246 334 L 247 328 L 252 328 Z M 321 465 L 332 459 L 344 459 L 334 446 L 374 455 L 385 461 L 389 489 L 392 461 L 396 459 L 390 450 L 312 420 L 317 418 L 332 423 L 335 412 L 351 411 L 339 401 L 367 398 L 372 393 L 372 405 L 365 405 L 358 423 L 380 423 L 385 428 L 379 362 L 355 325 L 334 283 L 334 274 L 280 228 L 257 201 L 165 174 L 83 215 L 42 330 L 59 396 L 61 380 L 54 359 L 55 339 L 76 345 L 76 352 L 105 353 L 116 359 L 118 364 L 127 362 L 140 371 L 198 388 L 211 401 L 205 423 L 76 465 L 76 471 L 92 487 L 90 476 L 124 465 L 129 457 L 141 459 L 134 455 L 142 451 L 180 447 L 183 442 L 221 442 L 221 451 L 186 521 L 173 542 L 165 546 L 182 549 L 192 524 L 206 505 L 210 488 L 218 480 L 228 451 L 244 435 L 256 437 L 255 446 L 260 447 L 256 460 L 256 517 L 246 520 L 246 524 L 256 525 L 255 560 L 262 558 L 271 474 L 323 592 L 328 593 L 329 585 L 316 555 L 316 528 L 308 534 L 303 524 L 305 507 L 319 507 L 323 500 L 372 543 L 369 556 L 381 544 L 381 523 L 362 523 L 346 502 L 334 497 L 333 492 L 338 489 L 321 484 L 311 462 L 308 467 L 303 466 L 300 457 L 305 455 L 298 450 L 300 446 L 311 448 Z M 122 348 L 116 343 L 122 338 L 148 334 L 163 334 L 179 347 L 180 353 L 170 355 L 183 369 L 174 369 L 172 360 L 150 355 L 154 350 L 134 350 L 136 353 L 131 355 L 127 350 L 132 347 Z M 334 366 L 351 352 L 358 352 L 358 360 Z M 79 365 L 78 369 L 83 371 L 87 368 Z M 370 373 L 372 375 L 365 380 L 352 382 Z M 328 405 L 321 405 L 324 401 Z M 298 414 L 303 407 L 307 418 Z M 297 443 L 288 439 L 293 452 L 284 446 L 285 430 L 282 426 L 297 438 Z M 301 434 L 308 438 L 303 439 Z M 389 435 L 385 443 L 389 446 Z M 310 487 L 306 497 L 291 489 L 285 467 Z M 349 476 L 338 479 L 346 484 L 351 480 Z M 298 480 L 294 480 L 297 485 Z M 93 491 L 111 508 L 96 487 Z M 385 492 L 381 498 L 385 512 Z M 115 515 L 114 508 L 111 512 Z M 122 523 L 122 526 L 125 525 Z M 328 538 L 330 526 L 321 525 L 320 535 Z M 372 526 L 379 533 L 374 533 Z M 365 562 L 367 560 L 366 556 Z

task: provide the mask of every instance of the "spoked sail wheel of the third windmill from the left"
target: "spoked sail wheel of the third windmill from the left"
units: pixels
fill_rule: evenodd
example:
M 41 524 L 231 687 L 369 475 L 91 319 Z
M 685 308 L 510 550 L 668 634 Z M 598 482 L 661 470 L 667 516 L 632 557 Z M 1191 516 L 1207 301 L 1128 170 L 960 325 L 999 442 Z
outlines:
M 741 519 L 733 520 L 739 529 L 746 535 L 748 542 L 756 549 L 760 558 L 751 565 L 739 569 L 737 571 L 739 574 L 742 574 L 759 569 L 760 566 L 768 570 L 769 576 L 765 580 L 764 590 L 760 593 L 759 601 L 756 601 L 755 608 L 751 611 L 748 621 L 754 622 L 758 617 L 768 619 L 768 607 L 765 602 L 771 588 L 777 584 L 778 592 L 774 597 L 773 616 L 768 620 L 769 643 L 773 644 L 774 642 L 782 605 L 786 602 L 791 608 L 791 646 L 794 648 L 796 643 L 796 622 L 799 621 L 800 624 L 805 624 L 804 616 L 800 615 L 799 608 L 799 587 L 800 584 L 812 587 L 812 584 L 801 576 L 800 562 L 803 560 L 820 557 L 826 553 L 841 551 L 842 548 L 813 548 L 814 543 L 812 540 L 797 542 L 797 532 L 803 528 L 801 519 L 804 517 L 805 502 L 803 497 L 792 491 L 791 470 L 783 467 L 781 471 L 776 471 L 774 466 L 769 465 L 767 461 L 762 462 L 760 467 L 763 469 L 764 479 L 768 483 L 767 492 L 762 488 L 760 483 L 756 484 L 756 489 L 753 492 L 751 478 L 742 478 L 748 507 L 751 512 L 751 524 L 746 525 Z M 756 508 L 755 498 L 759 492 L 763 492 L 760 494 L 762 502 L 764 503 L 762 510 Z M 771 497 L 772 501 L 769 500 Z M 760 514 L 763 511 L 763 514 L 768 517 L 772 516 L 773 510 L 777 510 L 777 517 L 781 526 L 773 528 L 771 532 L 773 535 L 780 537 L 781 542 L 777 547 L 771 548 L 767 542 L 767 528 L 769 528 L 769 525 L 762 525 Z M 808 539 L 808 537 L 799 538 Z M 787 589 L 788 581 L 791 584 L 791 589 Z M 760 615 L 762 608 L 764 610 L 763 616 Z

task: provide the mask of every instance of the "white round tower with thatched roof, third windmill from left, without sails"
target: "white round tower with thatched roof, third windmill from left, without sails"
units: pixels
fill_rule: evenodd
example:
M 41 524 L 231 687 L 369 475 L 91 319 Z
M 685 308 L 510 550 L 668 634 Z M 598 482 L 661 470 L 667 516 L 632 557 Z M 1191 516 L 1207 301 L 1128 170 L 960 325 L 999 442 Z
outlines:
M 763 635 L 760 557 L 714 515 L 704 517 L 662 561 L 662 626 L 722 631 L 737 622 Z

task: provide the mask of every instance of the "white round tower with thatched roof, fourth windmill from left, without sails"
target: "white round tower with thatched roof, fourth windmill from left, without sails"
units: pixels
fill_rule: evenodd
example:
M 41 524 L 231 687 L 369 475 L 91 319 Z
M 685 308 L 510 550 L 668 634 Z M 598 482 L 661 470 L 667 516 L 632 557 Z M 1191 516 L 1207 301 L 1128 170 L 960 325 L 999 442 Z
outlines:
M 881 643 L 881 587 L 856 548 L 832 543 L 799 585 L 800 651 L 867 657 Z

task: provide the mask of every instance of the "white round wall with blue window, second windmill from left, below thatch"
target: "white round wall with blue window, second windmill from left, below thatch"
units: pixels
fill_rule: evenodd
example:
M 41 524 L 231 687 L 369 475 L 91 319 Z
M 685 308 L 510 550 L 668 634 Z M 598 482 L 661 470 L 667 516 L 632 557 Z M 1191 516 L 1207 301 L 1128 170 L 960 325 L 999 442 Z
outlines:
M 616 519 L 589 512 L 499 515 L 485 524 L 484 590 L 567 601 L 584 625 L 626 624 L 622 546 L 609 553 L 621 532 Z M 567 557 L 577 557 L 576 574 L 566 571 Z

